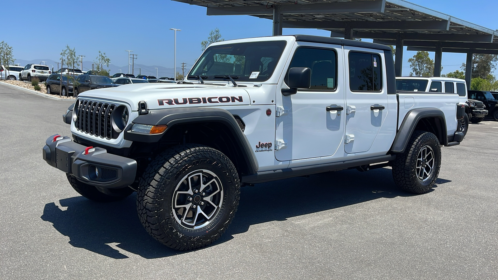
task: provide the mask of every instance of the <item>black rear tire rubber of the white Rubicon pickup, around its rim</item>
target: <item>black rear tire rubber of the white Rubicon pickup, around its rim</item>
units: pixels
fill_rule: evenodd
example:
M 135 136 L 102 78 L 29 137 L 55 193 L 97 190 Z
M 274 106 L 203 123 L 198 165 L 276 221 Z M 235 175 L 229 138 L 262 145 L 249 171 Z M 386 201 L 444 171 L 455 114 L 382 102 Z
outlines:
M 417 175 L 417 157 L 421 149 L 429 146 L 434 153 L 433 168 L 427 179 Z M 392 164 L 394 183 L 407 192 L 422 194 L 430 191 L 439 175 L 441 167 L 441 147 L 437 137 L 424 131 L 415 131 L 403 153 L 396 155 Z

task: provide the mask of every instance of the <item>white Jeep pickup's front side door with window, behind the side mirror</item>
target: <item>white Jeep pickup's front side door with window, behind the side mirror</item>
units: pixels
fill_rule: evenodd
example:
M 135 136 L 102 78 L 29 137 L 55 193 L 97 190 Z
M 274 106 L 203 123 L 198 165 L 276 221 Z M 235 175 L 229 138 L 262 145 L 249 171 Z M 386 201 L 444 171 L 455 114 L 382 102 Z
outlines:
M 311 87 L 282 95 L 281 101 L 277 98 L 283 114 L 276 117 L 276 144 L 283 141 L 286 145 L 275 150 L 279 161 L 333 155 L 344 137 L 344 85 L 338 81 L 344 77 L 342 47 L 298 42 L 295 48 L 285 71 L 309 67 Z M 285 81 L 277 87 L 277 95 L 281 88 L 288 88 Z

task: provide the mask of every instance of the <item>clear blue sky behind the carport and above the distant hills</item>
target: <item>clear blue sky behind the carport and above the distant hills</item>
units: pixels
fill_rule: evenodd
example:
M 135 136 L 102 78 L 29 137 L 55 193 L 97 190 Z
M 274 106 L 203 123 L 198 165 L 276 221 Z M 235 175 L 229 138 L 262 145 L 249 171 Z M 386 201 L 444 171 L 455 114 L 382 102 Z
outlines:
M 412 2 L 498 29 L 494 0 L 412 0 Z M 138 55 L 136 63 L 173 67 L 173 31 L 177 32 L 177 71 L 180 63 L 191 66 L 201 54 L 201 41 L 218 27 L 225 39 L 271 35 L 271 20 L 252 16 L 207 16 L 206 8 L 172 0 L 156 1 L 54 1 L 19 5 L 1 3 L 3 12 L 0 41 L 13 47 L 14 57 L 22 60 L 59 60 L 66 44 L 95 60 L 105 52 L 111 63 L 126 68 L 127 52 Z M 7 27 L 7 28 L 6 28 Z M 283 29 L 284 34 L 330 36 L 317 29 Z M 403 75 L 410 72 L 406 60 L 415 52 L 404 52 Z M 434 58 L 434 53 L 430 53 Z M 443 73 L 460 69 L 465 54 L 443 53 Z M 84 65 L 85 66 L 85 65 Z M 120 68 L 122 68 L 120 67 Z M 155 69 L 151 69 L 154 71 Z M 124 72 L 127 71 L 123 69 Z M 143 70 L 142 70 L 143 72 Z M 150 72 L 152 73 L 152 72 Z

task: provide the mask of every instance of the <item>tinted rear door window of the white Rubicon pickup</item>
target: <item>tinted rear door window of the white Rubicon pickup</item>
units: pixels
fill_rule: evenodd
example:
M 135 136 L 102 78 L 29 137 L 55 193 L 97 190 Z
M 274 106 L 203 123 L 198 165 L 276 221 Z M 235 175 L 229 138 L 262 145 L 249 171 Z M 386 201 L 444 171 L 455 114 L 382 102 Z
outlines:
M 349 88 L 351 91 L 382 90 L 380 56 L 372 53 L 349 53 Z

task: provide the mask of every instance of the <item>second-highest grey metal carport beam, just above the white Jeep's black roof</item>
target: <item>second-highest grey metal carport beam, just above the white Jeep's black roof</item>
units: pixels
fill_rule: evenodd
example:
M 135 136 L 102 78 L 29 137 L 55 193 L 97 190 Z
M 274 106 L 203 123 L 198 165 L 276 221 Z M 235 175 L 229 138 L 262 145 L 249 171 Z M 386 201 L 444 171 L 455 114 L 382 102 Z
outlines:
M 450 22 L 446 20 L 426 21 L 290 21 L 283 22 L 284 28 L 317 28 L 317 29 L 345 29 L 351 24 L 353 29 L 383 29 L 383 30 L 449 30 Z

